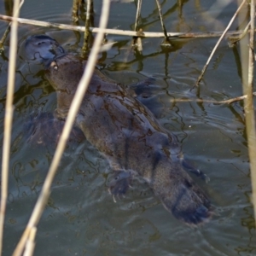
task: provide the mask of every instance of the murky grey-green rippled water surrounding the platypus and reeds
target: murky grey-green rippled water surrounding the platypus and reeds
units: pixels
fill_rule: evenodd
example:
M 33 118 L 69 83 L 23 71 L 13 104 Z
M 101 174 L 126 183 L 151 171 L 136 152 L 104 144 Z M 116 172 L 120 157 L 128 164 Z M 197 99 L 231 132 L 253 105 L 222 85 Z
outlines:
M 177 1 L 178 2 L 178 1 Z M 182 2 L 182 1 L 181 1 Z M 214 1 L 212 1 L 214 2 Z M 26 1 L 20 16 L 72 24 L 72 1 Z M 221 31 L 236 11 L 236 1 L 210 19 L 207 1 L 162 1 L 170 32 Z M 0 12 L 5 14 L 3 0 Z M 95 24 L 101 1 L 95 1 Z M 136 5 L 114 1 L 108 27 L 132 29 Z M 160 32 L 154 1 L 143 1 L 142 27 Z M 232 26 L 236 29 L 237 24 Z M 6 23 L 0 21 L 0 34 Z M 22 46 L 26 37 L 45 33 L 66 49 L 79 51 L 82 35 L 37 26 L 20 26 L 15 84 L 15 119 L 9 172 L 9 201 L 4 229 L 3 255 L 10 255 L 30 217 L 52 159 L 52 146 L 27 143 L 23 125 L 30 114 L 52 112 L 55 92 L 44 79 L 41 66 L 26 63 Z M 191 228 L 162 207 L 143 183 L 134 182 L 125 199 L 113 202 L 108 194 L 109 169 L 89 143 L 70 143 L 55 177 L 49 204 L 38 224 L 35 255 L 254 255 L 255 229 L 250 203 L 251 181 L 242 104 L 175 102 L 177 98 L 223 100 L 241 95 L 237 49 L 220 45 L 199 91 L 189 92 L 207 61 L 216 38 L 174 41 L 162 49 L 161 39 L 143 39 L 143 54 L 130 50 L 131 38 L 108 36 L 116 42 L 99 67 L 110 78 L 132 84 L 154 77 L 155 112 L 166 129 L 175 132 L 183 152 L 211 178 L 198 180 L 215 207 L 216 216 Z M 3 117 L 9 60 L 9 38 L 0 55 L 0 125 Z M 198 95 L 196 96 L 196 93 Z M 148 104 L 153 100 L 149 99 Z M 157 111 L 158 110 L 158 111 Z

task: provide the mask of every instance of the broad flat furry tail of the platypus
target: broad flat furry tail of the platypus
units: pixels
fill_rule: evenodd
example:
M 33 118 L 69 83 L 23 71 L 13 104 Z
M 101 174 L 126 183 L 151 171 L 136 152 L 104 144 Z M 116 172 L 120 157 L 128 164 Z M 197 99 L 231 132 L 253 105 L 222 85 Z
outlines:
M 207 195 L 181 166 L 176 166 L 174 172 L 165 171 L 154 177 L 153 189 L 167 211 L 187 224 L 201 224 L 212 216 Z

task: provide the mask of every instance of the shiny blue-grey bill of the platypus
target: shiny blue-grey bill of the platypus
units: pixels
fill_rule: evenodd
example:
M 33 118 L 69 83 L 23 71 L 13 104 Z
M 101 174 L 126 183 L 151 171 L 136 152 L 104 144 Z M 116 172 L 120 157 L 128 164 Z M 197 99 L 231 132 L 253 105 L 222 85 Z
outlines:
M 56 56 L 65 55 L 65 50 L 55 39 L 45 35 L 26 38 L 26 59 L 49 64 Z

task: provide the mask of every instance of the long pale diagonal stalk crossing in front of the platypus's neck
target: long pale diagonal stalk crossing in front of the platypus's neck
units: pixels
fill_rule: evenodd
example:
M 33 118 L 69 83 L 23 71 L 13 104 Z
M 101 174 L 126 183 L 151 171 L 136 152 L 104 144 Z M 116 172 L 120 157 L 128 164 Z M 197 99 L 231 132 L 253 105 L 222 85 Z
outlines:
M 101 15 L 101 20 L 100 20 L 100 27 L 102 27 L 102 28 L 105 28 L 108 23 L 109 4 L 110 4 L 109 0 L 103 0 L 102 15 Z M 31 231 L 36 227 L 36 225 L 38 224 L 39 218 L 41 217 L 41 215 L 43 213 L 45 203 L 49 198 L 50 185 L 53 181 L 53 178 L 55 177 L 55 172 L 56 172 L 59 162 L 61 160 L 61 155 L 65 149 L 67 139 L 69 137 L 69 133 L 73 126 L 73 121 L 78 113 L 80 104 L 81 104 L 82 100 L 84 99 L 85 91 L 87 90 L 87 87 L 90 83 L 90 78 L 92 76 L 92 73 L 94 72 L 97 55 L 98 55 L 98 52 L 99 52 L 99 50 L 101 48 L 101 44 L 102 44 L 103 35 L 104 35 L 103 29 L 100 30 L 100 32 L 98 32 L 98 34 L 96 35 L 96 40 L 91 49 L 90 57 L 88 59 L 87 65 L 86 65 L 86 70 L 84 71 L 83 77 L 81 78 L 81 80 L 79 82 L 79 86 L 76 91 L 76 94 L 73 97 L 73 102 L 71 104 L 71 107 L 70 107 L 68 115 L 67 115 L 67 121 L 66 121 L 66 124 L 61 133 L 61 138 L 60 138 L 60 141 L 55 150 L 55 155 L 54 155 L 52 163 L 49 167 L 49 172 L 47 174 L 47 177 L 45 178 L 44 186 L 39 195 L 36 206 L 34 207 L 32 216 L 26 226 L 26 230 L 24 231 L 18 246 L 15 248 L 15 253 L 13 254 L 14 256 L 20 256 L 22 254 L 24 247 L 26 245 L 26 241 L 27 241 L 28 237 L 30 236 Z

